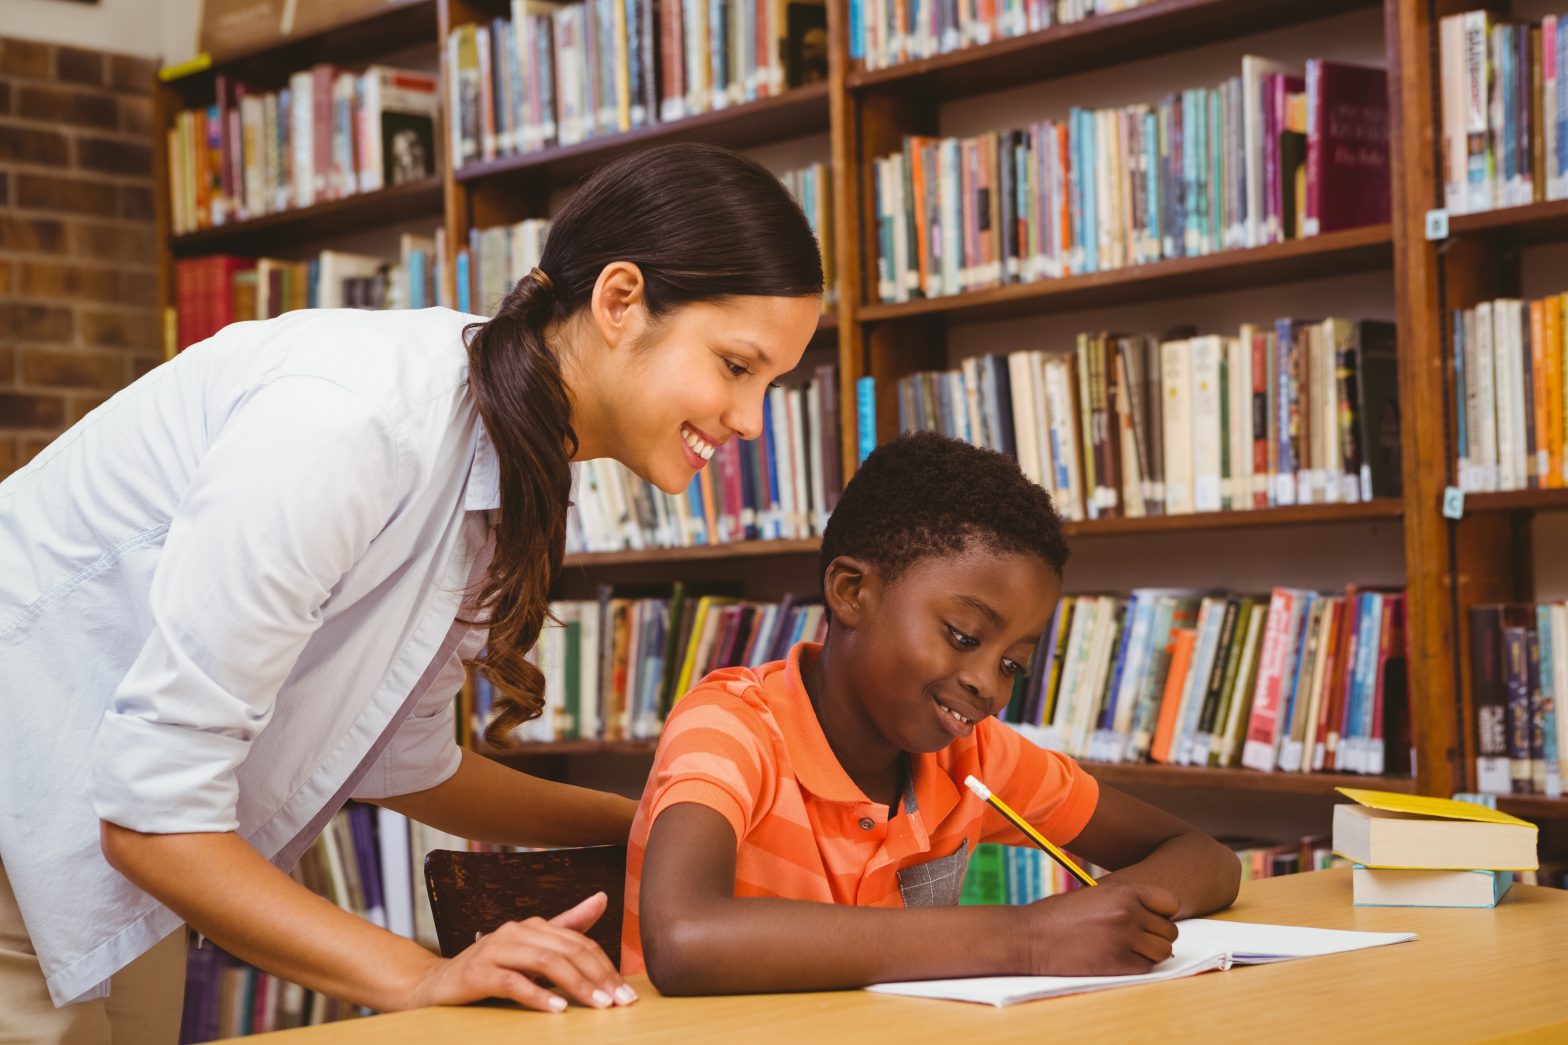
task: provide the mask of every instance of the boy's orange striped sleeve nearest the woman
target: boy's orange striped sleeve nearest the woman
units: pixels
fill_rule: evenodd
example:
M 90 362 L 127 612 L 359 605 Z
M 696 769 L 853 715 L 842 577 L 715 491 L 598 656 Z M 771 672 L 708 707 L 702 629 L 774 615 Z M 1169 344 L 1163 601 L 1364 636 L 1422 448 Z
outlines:
M 729 821 L 739 847 L 771 807 L 776 775 L 759 714 L 710 679 L 682 697 L 665 723 L 643 796 L 649 828 L 670 807 L 695 802 Z

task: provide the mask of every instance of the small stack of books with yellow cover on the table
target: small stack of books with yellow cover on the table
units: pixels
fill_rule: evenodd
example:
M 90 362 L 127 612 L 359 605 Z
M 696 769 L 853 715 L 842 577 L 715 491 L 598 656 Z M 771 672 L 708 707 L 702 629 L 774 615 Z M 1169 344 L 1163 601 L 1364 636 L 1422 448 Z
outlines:
M 1496 907 L 1534 871 L 1534 824 L 1474 802 L 1339 788 L 1334 852 L 1355 863 L 1355 904 Z

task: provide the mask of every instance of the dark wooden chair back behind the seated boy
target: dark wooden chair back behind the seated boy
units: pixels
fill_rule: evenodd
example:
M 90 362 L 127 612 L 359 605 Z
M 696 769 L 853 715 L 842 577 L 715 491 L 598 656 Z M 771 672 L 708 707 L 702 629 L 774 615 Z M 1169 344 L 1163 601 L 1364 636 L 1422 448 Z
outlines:
M 455 852 L 425 857 L 425 887 L 441 954 L 453 957 L 508 921 L 554 918 L 594 893 L 608 898 L 588 930 L 616 968 L 621 965 L 621 915 L 626 898 L 626 846 L 588 846 L 543 852 Z

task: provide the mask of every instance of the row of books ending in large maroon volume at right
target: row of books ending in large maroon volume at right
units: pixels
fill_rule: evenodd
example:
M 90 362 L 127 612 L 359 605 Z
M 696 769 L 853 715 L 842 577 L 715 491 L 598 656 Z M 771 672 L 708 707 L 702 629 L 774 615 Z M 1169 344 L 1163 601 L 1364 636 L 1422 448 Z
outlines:
M 1388 75 L 1247 56 L 1218 88 L 873 165 L 883 301 L 1261 246 L 1389 220 Z

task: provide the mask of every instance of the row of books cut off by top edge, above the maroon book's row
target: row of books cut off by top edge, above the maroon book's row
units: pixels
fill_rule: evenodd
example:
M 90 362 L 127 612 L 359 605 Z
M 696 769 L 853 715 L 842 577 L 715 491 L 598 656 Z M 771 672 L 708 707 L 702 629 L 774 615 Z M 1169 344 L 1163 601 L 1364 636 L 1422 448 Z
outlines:
M 850 5 L 850 58 L 867 69 L 1140 8 L 1149 0 L 884 0 Z

